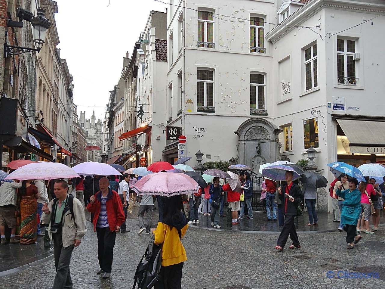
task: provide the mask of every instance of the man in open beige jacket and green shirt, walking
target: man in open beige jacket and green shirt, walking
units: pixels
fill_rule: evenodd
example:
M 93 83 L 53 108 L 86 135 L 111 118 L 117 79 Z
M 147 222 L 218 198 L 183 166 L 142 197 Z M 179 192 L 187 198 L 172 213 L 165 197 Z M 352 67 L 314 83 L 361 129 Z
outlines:
M 69 268 L 72 250 L 80 245 L 87 232 L 84 209 L 77 198 L 68 194 L 66 181 L 55 182 L 54 194 L 56 198 L 42 208 L 42 220 L 49 223 L 49 236 L 54 239 L 56 276 L 52 288 L 72 288 Z

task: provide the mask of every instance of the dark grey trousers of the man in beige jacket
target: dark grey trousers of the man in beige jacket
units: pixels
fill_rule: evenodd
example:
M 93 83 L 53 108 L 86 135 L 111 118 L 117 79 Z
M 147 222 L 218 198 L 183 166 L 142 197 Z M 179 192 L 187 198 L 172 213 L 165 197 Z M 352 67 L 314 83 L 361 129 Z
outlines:
M 54 256 L 56 268 L 56 276 L 52 289 L 72 289 L 70 261 L 72 250 L 74 250 L 74 245 L 63 248 L 61 232 L 58 234 L 52 234 L 52 239 L 54 239 Z

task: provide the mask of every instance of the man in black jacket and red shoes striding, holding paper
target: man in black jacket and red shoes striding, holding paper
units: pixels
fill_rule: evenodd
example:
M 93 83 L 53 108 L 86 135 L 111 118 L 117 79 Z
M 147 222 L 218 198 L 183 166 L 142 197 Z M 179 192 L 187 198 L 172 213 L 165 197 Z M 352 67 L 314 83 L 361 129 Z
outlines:
M 285 223 L 283 224 L 283 229 L 281 231 L 280 237 L 278 237 L 277 245 L 275 249 L 282 251 L 283 247 L 288 240 L 290 239 L 293 244 L 289 247 L 290 249 L 301 248 L 300 241 L 298 240 L 297 232 L 294 225 L 294 217 L 297 215 L 297 207 L 300 205 L 302 200 L 302 192 L 300 187 L 293 183 L 293 172 L 286 171 L 286 185 L 278 188 L 280 195 L 284 195 L 282 207 L 285 213 Z M 287 193 L 287 195 L 285 195 Z M 289 195 L 289 196 L 288 196 Z

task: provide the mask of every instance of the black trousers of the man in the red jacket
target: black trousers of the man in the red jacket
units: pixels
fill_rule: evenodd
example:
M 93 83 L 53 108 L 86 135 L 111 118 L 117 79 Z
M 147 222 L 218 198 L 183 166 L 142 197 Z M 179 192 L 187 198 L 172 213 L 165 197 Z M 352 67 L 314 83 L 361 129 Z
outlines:
M 104 272 L 111 273 L 116 232 L 111 232 L 110 227 L 96 228 L 96 235 L 98 242 L 97 257 L 99 259 L 100 269 Z

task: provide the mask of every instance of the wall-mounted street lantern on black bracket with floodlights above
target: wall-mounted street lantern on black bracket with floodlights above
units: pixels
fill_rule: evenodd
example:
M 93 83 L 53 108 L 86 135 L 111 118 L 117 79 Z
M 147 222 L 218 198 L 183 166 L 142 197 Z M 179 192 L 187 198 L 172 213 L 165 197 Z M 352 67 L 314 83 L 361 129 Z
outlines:
M 21 46 L 14 46 L 14 45 L 8 45 L 7 44 L 7 29 L 5 30 L 5 43 L 4 43 L 4 57 L 8 57 L 8 55 L 19 55 L 23 54 L 25 52 L 30 51 L 37 51 L 40 52 L 40 49 L 42 49 L 43 44 L 45 43 L 45 35 L 47 34 L 47 30 L 51 26 L 51 22 L 45 18 L 45 9 L 38 8 L 37 9 L 37 16 L 31 17 L 31 13 L 20 9 L 17 12 L 17 16 L 20 19 L 24 19 L 26 21 L 31 22 L 32 24 L 32 36 L 33 36 L 33 42 L 35 43 L 36 48 L 29 48 L 29 47 L 21 47 Z M 8 20 L 7 27 L 23 27 L 23 22 L 20 20 L 20 22 L 16 22 L 13 20 Z

